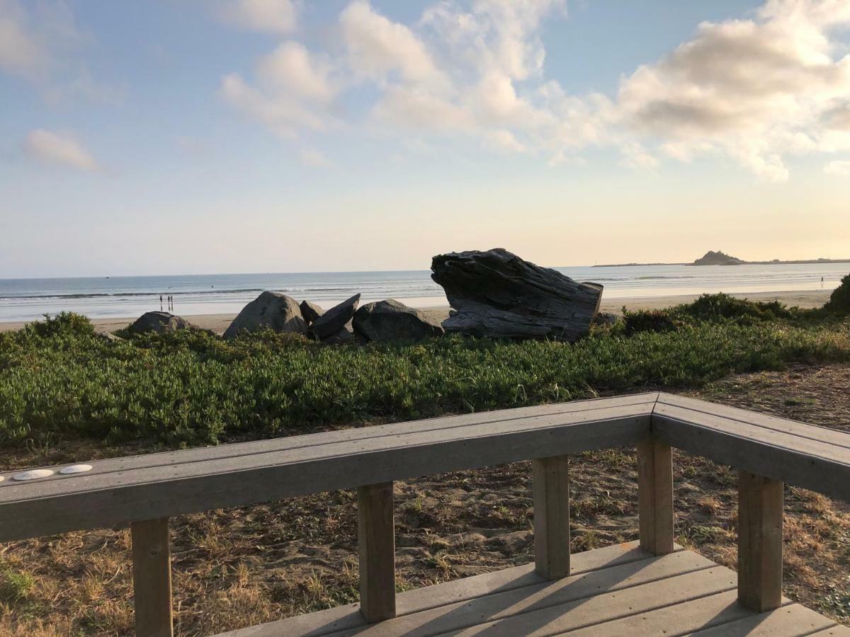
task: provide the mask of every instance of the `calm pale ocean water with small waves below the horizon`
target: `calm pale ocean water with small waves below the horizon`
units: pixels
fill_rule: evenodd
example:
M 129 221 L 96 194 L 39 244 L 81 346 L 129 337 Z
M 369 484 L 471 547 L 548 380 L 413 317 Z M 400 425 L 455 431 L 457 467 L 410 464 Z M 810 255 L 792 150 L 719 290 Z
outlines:
M 605 286 L 604 299 L 618 299 L 719 291 L 833 290 L 850 272 L 850 264 L 555 269 L 579 281 L 600 283 Z M 237 313 L 263 290 L 279 290 L 298 301 L 324 306 L 357 292 L 362 294 L 361 302 L 395 298 L 415 307 L 446 303 L 428 270 L 0 279 L 0 321 L 31 320 L 62 311 L 91 318 L 133 317 L 160 309 L 160 295 L 174 297 L 175 313 Z

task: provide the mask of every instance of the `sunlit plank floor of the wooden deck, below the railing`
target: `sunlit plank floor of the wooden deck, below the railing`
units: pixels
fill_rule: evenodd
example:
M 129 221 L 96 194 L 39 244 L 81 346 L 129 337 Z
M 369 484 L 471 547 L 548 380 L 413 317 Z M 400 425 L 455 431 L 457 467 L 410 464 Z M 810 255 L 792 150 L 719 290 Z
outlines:
M 572 555 L 568 578 L 547 581 L 529 564 L 411 590 L 397 596 L 397 617 L 380 623 L 366 623 L 360 606 L 349 604 L 226 636 L 850 636 L 786 599 L 774 611 L 749 611 L 738 603 L 735 572 L 676 549 L 655 556 L 638 543 L 619 544 Z

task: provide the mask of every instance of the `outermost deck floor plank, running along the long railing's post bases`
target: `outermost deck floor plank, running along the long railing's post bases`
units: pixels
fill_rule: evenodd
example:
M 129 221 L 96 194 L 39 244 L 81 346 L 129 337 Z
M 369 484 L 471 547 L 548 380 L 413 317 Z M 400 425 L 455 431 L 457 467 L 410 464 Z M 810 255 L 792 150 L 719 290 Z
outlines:
M 688 551 L 677 546 L 676 550 L 683 554 Z M 604 569 L 634 564 L 638 569 L 653 559 L 637 542 L 614 544 L 603 549 L 581 551 L 572 555 L 573 577 L 591 572 L 601 572 Z M 705 560 L 705 558 L 700 558 Z M 640 562 L 640 564 L 637 564 Z M 697 562 L 695 567 L 711 566 L 710 561 Z M 680 566 L 679 570 L 687 572 L 687 567 Z M 407 590 L 396 595 L 396 614 L 401 617 L 416 612 L 428 611 L 440 606 L 449 606 L 459 602 L 473 600 L 509 590 L 522 589 L 535 584 L 547 584 L 535 571 L 534 564 L 524 564 L 521 567 L 505 568 L 475 575 L 469 578 L 455 579 L 450 582 L 426 586 L 421 589 Z M 292 637 L 321 637 L 342 630 L 357 629 L 365 626 L 366 622 L 360 614 L 357 604 L 346 604 L 324 611 L 312 612 L 297 617 L 287 617 L 276 622 L 250 626 L 226 633 L 227 637 L 277 637 L 286 634 Z

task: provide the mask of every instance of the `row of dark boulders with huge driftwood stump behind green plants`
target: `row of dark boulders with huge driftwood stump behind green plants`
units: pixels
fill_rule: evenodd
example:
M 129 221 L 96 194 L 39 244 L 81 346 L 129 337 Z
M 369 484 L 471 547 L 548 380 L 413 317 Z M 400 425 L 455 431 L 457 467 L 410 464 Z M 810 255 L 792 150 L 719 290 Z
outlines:
M 270 329 L 306 335 L 323 343 L 422 341 L 444 331 L 497 338 L 576 341 L 593 322 L 614 323 L 599 313 L 603 286 L 578 283 L 501 248 L 450 252 L 433 257 L 431 278 L 443 286 L 452 311 L 442 325 L 418 310 L 388 299 L 360 305 L 355 294 L 324 311 L 281 292 L 263 292 L 242 308 L 224 338 Z M 167 312 L 144 314 L 131 331 L 168 332 L 191 328 Z

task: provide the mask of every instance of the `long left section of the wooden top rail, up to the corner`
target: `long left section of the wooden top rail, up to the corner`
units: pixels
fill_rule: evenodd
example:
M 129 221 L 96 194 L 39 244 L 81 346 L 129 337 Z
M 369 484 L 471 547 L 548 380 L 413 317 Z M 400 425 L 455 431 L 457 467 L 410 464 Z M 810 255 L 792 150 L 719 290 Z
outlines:
M 621 447 L 649 437 L 658 394 L 600 398 L 0 474 L 0 541 Z

